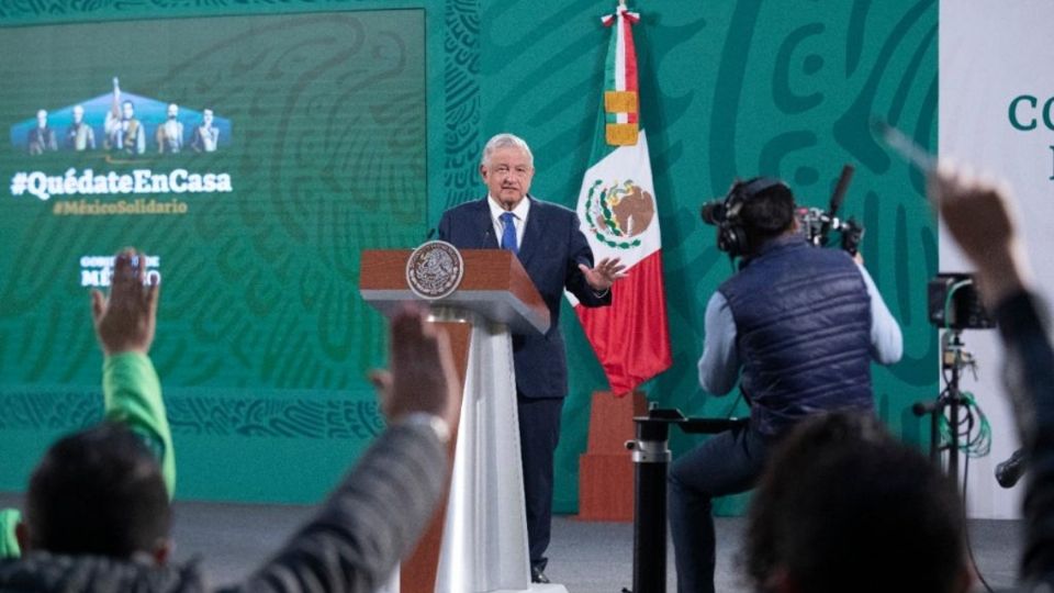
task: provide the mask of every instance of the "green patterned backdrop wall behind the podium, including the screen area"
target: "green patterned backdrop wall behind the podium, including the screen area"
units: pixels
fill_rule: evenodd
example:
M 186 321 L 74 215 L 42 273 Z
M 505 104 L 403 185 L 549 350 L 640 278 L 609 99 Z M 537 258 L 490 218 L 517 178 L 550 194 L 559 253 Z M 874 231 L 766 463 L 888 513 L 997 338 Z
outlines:
M 312 502 L 381 425 L 363 378 L 383 362 L 383 323 L 358 298 L 359 250 L 413 246 L 444 209 L 480 197 L 479 153 L 497 132 L 531 144 L 536 194 L 576 200 L 610 34 L 599 16 L 614 1 L 199 4 L 0 5 L 0 71 L 27 81 L 0 92 L 5 126 L 108 92 L 120 68 L 130 92 L 199 110 L 208 102 L 231 120 L 226 153 L 170 158 L 229 171 L 235 188 L 188 195 L 182 216 L 101 222 L 57 220 L 35 198 L 0 194 L 0 489 L 22 489 L 55 435 L 100 412 L 81 255 L 125 244 L 165 250 L 154 358 L 175 427 L 178 495 Z M 922 179 L 890 159 L 868 122 L 881 116 L 934 147 L 937 2 L 631 8 L 642 13 L 641 116 L 674 353 L 673 368 L 646 385 L 649 399 L 692 415 L 744 413 L 735 395 L 697 385 L 705 304 L 731 272 L 699 204 L 737 175 L 774 175 L 803 204 L 825 206 L 851 163 L 843 213 L 866 227 L 863 255 L 905 334 L 904 360 L 875 369 L 879 414 L 923 441 L 908 409 L 937 392 L 922 298 L 937 269 L 934 226 Z M 13 145 L 0 154 L 5 182 L 31 165 L 61 175 L 91 158 L 30 160 Z M 556 508 L 574 512 L 590 394 L 605 384 L 574 315 L 563 323 L 571 395 Z M 672 440 L 675 452 L 692 444 Z M 737 497 L 718 511 L 741 508 Z

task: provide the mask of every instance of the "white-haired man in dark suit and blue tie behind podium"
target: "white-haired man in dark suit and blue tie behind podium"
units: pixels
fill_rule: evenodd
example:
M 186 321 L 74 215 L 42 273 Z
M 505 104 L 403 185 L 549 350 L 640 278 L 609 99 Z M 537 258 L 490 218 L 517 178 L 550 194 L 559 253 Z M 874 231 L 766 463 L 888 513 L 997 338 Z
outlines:
M 462 249 L 501 247 L 516 253 L 549 307 L 551 325 L 546 335 L 513 335 L 530 573 L 534 582 L 547 583 L 552 459 L 568 394 L 560 301 L 567 289 L 585 306 L 610 304 L 612 284 L 625 276 L 625 266 L 613 258 L 594 267 L 575 213 L 527 193 L 534 175 L 526 142 L 512 134 L 492 137 L 480 163 L 487 197 L 445 212 L 439 238 Z

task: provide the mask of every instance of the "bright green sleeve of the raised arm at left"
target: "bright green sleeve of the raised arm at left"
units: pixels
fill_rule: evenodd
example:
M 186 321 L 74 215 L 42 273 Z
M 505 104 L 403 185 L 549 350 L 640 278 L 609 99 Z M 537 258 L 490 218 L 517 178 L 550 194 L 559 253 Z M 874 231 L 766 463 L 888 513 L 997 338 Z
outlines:
M 136 353 L 108 356 L 102 363 L 102 396 L 106 419 L 126 424 L 157 456 L 171 499 L 176 491 L 172 433 L 161 382 L 149 357 Z

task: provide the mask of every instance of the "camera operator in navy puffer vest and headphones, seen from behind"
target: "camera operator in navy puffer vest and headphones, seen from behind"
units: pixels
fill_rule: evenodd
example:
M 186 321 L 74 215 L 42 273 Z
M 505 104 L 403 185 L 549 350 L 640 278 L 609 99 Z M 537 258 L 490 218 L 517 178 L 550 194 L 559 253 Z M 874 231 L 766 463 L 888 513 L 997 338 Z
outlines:
M 699 384 L 721 395 L 738 378 L 751 413 L 745 427 L 713 436 L 671 468 L 681 592 L 714 591 L 711 499 L 753 488 L 771 446 L 800 419 L 872 414 L 872 358 L 900 359 L 900 327 L 861 260 L 809 245 L 794 213 L 790 189 L 772 178 L 739 181 L 703 211 L 718 247 L 742 261 L 707 305 Z

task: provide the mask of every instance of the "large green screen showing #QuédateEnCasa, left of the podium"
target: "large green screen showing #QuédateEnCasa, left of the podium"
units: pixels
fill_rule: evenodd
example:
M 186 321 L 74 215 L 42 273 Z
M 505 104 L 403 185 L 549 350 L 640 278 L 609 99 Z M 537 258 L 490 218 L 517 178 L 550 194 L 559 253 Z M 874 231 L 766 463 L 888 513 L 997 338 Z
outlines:
M 390 10 L 4 29 L 0 403 L 25 410 L 5 417 L 80 422 L 48 398 L 98 392 L 87 293 L 132 245 L 162 279 L 152 357 L 177 437 L 379 429 L 359 251 L 424 234 L 424 26 Z

